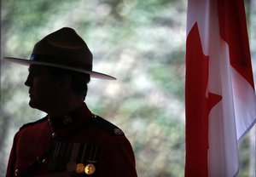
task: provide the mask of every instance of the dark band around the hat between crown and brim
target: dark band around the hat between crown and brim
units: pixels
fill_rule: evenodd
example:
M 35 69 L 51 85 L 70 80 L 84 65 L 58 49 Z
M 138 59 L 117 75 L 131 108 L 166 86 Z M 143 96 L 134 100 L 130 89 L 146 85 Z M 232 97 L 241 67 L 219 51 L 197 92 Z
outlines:
M 78 60 L 76 61 L 67 60 L 64 58 L 52 57 L 52 56 L 47 56 L 42 54 L 32 54 L 29 60 L 61 65 L 61 66 L 75 67 L 77 69 L 83 69 L 86 71 L 92 71 L 92 65 L 90 63 L 83 63 Z

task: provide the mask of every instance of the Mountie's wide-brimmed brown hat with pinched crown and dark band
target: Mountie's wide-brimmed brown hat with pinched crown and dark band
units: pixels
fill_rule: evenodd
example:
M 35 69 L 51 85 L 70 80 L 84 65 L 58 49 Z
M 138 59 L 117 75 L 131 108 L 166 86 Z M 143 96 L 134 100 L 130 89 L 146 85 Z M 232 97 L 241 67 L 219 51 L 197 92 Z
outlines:
M 35 44 L 30 60 L 4 57 L 17 64 L 30 66 L 52 66 L 70 71 L 87 73 L 90 77 L 114 80 L 101 72 L 92 71 L 93 56 L 84 40 L 76 31 L 69 27 L 63 27 L 50 33 Z

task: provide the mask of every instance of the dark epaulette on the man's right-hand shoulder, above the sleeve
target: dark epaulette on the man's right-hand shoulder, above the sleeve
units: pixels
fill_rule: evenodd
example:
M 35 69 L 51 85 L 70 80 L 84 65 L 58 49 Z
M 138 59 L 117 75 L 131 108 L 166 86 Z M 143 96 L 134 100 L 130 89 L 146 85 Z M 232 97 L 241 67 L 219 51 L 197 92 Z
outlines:
M 106 119 L 96 116 L 93 119 L 93 121 L 95 123 L 97 123 L 100 127 L 102 127 L 103 129 L 107 130 L 109 134 L 113 135 L 113 136 L 124 136 L 124 132 L 118 128 L 117 126 L 115 126 L 113 123 L 108 122 Z

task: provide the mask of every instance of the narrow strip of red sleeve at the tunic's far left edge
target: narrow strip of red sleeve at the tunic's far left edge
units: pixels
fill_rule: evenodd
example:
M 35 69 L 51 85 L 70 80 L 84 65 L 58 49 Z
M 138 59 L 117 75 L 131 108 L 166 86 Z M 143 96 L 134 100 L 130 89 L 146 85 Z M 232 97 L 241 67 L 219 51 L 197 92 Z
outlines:
M 12 149 L 10 151 L 9 163 L 8 163 L 8 167 L 7 167 L 7 171 L 6 171 L 6 177 L 15 176 L 15 163 L 16 163 L 15 150 L 16 150 L 17 136 L 18 135 L 15 134 L 15 138 L 14 138 L 14 141 L 13 141 L 13 146 L 12 146 Z

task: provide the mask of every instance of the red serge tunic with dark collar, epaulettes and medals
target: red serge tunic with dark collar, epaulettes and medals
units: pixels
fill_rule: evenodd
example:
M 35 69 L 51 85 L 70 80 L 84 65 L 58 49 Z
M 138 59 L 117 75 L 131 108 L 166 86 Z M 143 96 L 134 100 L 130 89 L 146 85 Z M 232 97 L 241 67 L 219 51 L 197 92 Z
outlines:
M 63 117 L 44 117 L 15 134 L 7 177 L 137 176 L 125 134 L 84 104 Z

